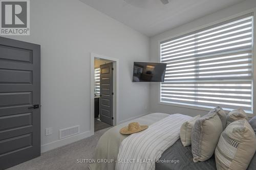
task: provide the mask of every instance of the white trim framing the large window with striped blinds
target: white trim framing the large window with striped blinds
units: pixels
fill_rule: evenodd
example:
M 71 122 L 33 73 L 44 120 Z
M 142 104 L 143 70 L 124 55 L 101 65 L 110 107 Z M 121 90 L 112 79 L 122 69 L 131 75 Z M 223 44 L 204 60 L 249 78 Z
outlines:
M 245 15 L 245 14 L 248 14 L 248 13 L 252 13 L 252 12 L 254 13 L 253 14 L 253 30 L 252 30 L 253 31 L 253 41 L 254 41 L 254 38 L 256 38 L 256 32 L 254 31 L 254 29 L 256 29 L 256 22 L 255 22 L 255 20 L 256 20 L 256 8 L 252 8 L 252 9 L 240 12 L 238 14 L 231 15 L 229 17 L 225 17 L 223 19 L 219 19 L 217 21 L 207 23 L 206 25 L 203 25 L 203 26 L 200 26 L 200 27 L 197 27 L 197 28 L 194 28 L 194 29 L 191 29 L 191 30 L 187 30 L 185 32 L 182 32 L 182 33 L 179 33 L 179 34 L 175 34 L 175 35 L 169 36 L 167 38 L 163 38 L 163 39 L 158 40 L 158 62 L 160 62 L 160 42 L 168 40 L 168 39 L 172 39 L 172 38 L 184 35 L 184 34 L 188 34 L 188 33 L 191 33 L 191 32 L 194 32 L 194 31 L 197 31 L 197 30 L 200 30 L 200 29 L 212 26 L 212 25 L 215 25 L 217 23 L 220 23 L 220 22 L 223 22 L 223 21 L 227 21 L 227 20 L 230 20 L 230 19 L 242 16 L 242 15 Z M 252 43 L 252 45 L 253 45 L 253 52 L 256 52 L 256 45 L 254 45 L 254 43 Z M 252 52 L 252 55 L 253 55 L 253 52 Z M 255 56 L 256 55 L 253 55 L 252 58 L 254 58 Z M 256 116 L 256 111 L 254 111 L 254 110 L 256 110 L 255 109 L 256 100 L 253 100 L 254 99 L 253 96 L 256 95 L 256 90 L 255 90 L 255 84 L 256 84 L 256 60 L 253 59 L 252 62 L 253 62 L 253 68 L 252 68 L 252 75 L 253 75 L 253 82 L 252 82 L 252 114 L 247 113 L 248 117 Z M 159 92 L 158 92 L 158 102 L 159 103 L 158 104 L 160 104 L 160 105 L 176 106 L 176 107 L 190 108 L 190 109 L 196 109 L 196 110 L 205 110 L 205 111 L 209 110 L 209 108 L 204 108 L 204 107 L 196 107 L 196 106 L 188 106 L 188 105 L 180 105 L 180 104 L 161 102 L 161 99 L 160 99 L 160 83 L 158 84 L 158 90 L 159 90 Z

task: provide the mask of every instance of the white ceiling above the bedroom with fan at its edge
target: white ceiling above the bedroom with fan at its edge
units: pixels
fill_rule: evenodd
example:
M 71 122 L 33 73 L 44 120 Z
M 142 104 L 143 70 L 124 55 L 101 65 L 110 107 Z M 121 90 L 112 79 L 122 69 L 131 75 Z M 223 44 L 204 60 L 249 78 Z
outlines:
M 244 0 L 80 0 L 147 35 L 154 36 Z

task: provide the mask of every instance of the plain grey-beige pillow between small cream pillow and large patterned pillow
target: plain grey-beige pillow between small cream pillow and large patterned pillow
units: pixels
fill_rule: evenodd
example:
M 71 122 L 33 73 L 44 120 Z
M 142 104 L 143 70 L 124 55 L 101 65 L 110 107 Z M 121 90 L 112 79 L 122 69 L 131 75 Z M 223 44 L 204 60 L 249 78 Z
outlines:
M 217 111 L 212 109 L 208 114 L 196 120 L 191 134 L 194 162 L 205 161 L 214 154 L 223 130 Z

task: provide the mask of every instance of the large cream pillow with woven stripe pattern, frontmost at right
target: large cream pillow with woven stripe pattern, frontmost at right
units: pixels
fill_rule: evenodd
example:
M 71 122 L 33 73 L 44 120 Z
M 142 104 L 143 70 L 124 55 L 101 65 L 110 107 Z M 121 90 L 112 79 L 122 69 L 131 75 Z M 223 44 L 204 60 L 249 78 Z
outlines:
M 222 132 L 215 149 L 218 170 L 246 169 L 256 150 L 256 137 L 246 119 L 227 126 Z

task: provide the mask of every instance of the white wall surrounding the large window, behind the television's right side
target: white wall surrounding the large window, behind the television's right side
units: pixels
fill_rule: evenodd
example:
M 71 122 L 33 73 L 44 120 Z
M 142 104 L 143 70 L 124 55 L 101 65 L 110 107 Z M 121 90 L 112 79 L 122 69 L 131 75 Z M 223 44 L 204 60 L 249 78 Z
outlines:
M 150 58 L 152 62 L 159 61 L 159 42 L 163 39 L 168 39 L 170 37 L 176 37 L 177 35 L 181 35 L 184 33 L 189 33 L 194 30 L 198 30 L 202 27 L 206 27 L 212 25 L 214 23 L 220 22 L 221 20 L 227 19 L 227 17 L 233 17 L 234 15 L 240 15 L 239 13 L 244 13 L 246 10 L 252 9 L 256 7 L 255 0 L 248 0 L 237 5 L 231 6 L 229 8 L 223 9 L 216 13 L 212 13 L 205 17 L 199 18 L 197 20 L 186 23 L 183 26 L 174 28 L 172 30 L 166 31 L 159 35 L 153 36 L 150 38 Z M 254 11 L 255 10 L 250 10 Z M 247 11 L 249 12 L 249 11 Z M 256 14 L 256 13 L 255 13 Z M 254 14 L 254 16 L 255 16 Z M 159 104 L 159 83 L 151 84 L 150 87 L 150 110 L 151 112 L 162 112 L 162 113 L 182 113 L 191 116 L 195 116 L 198 114 L 204 115 L 208 113 L 208 111 L 197 110 L 197 109 L 188 109 L 183 107 L 169 106 L 169 105 L 161 105 Z

